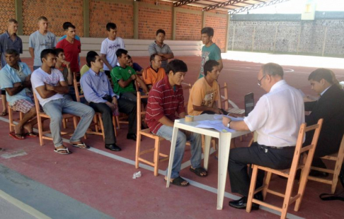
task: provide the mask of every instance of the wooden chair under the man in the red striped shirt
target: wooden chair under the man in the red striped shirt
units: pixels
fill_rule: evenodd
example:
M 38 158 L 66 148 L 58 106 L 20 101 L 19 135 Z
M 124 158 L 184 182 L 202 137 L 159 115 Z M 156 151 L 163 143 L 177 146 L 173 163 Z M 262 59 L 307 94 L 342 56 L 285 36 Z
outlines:
M 141 122 L 142 116 L 146 114 L 144 109 L 141 106 L 141 99 L 148 98 L 148 95 L 141 95 L 141 93 L 137 92 L 137 141 L 136 141 L 136 155 L 135 155 L 135 167 L 139 168 L 139 162 L 144 162 L 147 165 L 154 167 L 154 176 L 159 175 L 159 161 L 168 160 L 168 155 L 160 153 L 160 142 L 164 141 L 165 138 L 160 136 L 156 136 L 152 134 L 149 129 L 141 129 Z M 141 136 L 147 136 L 148 138 L 154 139 L 154 148 L 150 148 L 148 150 L 141 151 Z M 153 162 L 149 160 L 145 160 L 141 158 L 141 155 L 145 153 L 154 152 L 154 159 Z M 162 158 L 160 158 L 162 157 Z

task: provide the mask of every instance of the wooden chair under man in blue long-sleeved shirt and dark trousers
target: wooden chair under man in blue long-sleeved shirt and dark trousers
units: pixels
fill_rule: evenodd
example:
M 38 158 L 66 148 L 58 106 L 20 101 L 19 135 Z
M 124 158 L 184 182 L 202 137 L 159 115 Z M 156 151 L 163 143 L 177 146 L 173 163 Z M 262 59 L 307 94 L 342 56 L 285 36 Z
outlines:
M 74 84 L 76 101 L 77 102 L 81 102 L 81 98 L 85 97 L 85 95 L 81 95 L 79 93 L 80 82 L 76 81 L 76 78 L 74 78 L 73 84 Z M 113 118 L 113 124 L 114 124 L 114 127 L 115 127 L 115 118 Z M 93 123 L 91 123 L 90 126 L 94 126 L 95 131 L 89 131 L 88 130 L 88 131 L 86 131 L 86 134 L 93 134 L 93 135 L 103 136 L 103 139 L 105 139 L 103 120 L 101 120 L 101 113 L 100 112 L 96 112 L 94 114 Z M 115 136 L 117 136 L 116 129 L 115 129 Z

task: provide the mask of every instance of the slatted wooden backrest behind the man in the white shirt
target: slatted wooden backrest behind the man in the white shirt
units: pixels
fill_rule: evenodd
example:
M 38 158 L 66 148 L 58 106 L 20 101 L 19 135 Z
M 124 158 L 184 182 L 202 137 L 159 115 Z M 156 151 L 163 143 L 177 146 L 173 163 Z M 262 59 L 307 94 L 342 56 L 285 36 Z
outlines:
M 311 167 L 311 161 L 313 160 L 313 157 L 314 157 L 314 152 L 316 149 L 316 144 L 318 143 L 322 124 L 323 124 L 323 119 L 319 119 L 318 123 L 312 126 L 306 126 L 306 123 L 303 123 L 300 126 L 299 136 L 297 137 L 297 144 L 296 144 L 295 152 L 294 152 L 294 158 L 292 160 L 292 167 L 290 168 L 290 174 L 296 173 L 297 165 L 299 165 L 299 159 L 302 153 L 308 152 L 306 161 L 304 161 L 304 167 L 306 168 Z M 308 131 L 314 131 L 313 139 L 310 145 L 302 146 L 304 137 L 306 136 L 306 132 Z M 309 171 L 309 170 L 306 170 L 306 171 Z

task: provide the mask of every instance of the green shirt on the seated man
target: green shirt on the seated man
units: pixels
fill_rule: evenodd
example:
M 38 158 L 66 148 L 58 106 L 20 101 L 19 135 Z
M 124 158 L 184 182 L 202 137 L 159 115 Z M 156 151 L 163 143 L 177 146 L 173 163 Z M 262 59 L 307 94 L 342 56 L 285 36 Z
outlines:
M 122 88 L 118 83 L 120 79 L 127 81 L 133 74 L 136 75 L 136 71 L 130 66 L 126 66 L 125 69 L 123 69 L 121 66 L 115 66 L 110 73 L 111 79 L 113 80 L 113 92 L 115 92 L 117 95 L 121 95 L 122 93 L 136 91 L 134 88 L 134 83 L 130 83 L 125 88 Z

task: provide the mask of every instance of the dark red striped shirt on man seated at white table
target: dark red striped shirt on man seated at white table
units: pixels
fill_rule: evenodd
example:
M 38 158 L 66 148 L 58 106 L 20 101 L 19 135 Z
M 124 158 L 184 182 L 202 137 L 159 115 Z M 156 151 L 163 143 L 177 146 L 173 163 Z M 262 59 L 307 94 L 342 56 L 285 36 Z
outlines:
M 149 91 L 146 122 L 151 132 L 156 132 L 163 125 L 159 119 L 166 116 L 171 121 L 179 119 L 178 114 L 185 112 L 183 88 L 175 85 L 175 90 L 168 82 L 168 76 L 153 85 Z

